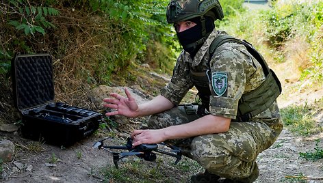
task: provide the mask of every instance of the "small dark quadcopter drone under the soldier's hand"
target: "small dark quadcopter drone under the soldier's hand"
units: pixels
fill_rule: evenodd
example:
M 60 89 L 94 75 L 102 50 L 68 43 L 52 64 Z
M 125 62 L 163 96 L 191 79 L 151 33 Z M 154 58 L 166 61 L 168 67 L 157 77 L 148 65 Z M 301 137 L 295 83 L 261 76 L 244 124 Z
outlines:
M 168 156 L 175 157 L 175 165 L 179 163 L 179 160 L 181 160 L 182 152 L 179 147 L 176 147 L 175 145 L 169 145 L 167 143 L 143 143 L 140 145 L 137 145 L 135 147 L 132 146 L 132 139 L 130 137 L 127 138 L 127 144 L 124 146 L 109 146 L 104 145 L 103 141 L 110 139 L 111 137 L 107 137 L 101 141 L 97 141 L 92 145 L 92 148 L 98 148 L 99 150 L 105 150 L 112 154 L 113 161 L 115 167 L 118 169 L 118 161 L 122 158 L 125 158 L 127 156 L 138 156 L 139 158 L 143 158 L 146 161 L 155 161 L 156 160 L 156 154 L 155 152 L 158 152 L 160 154 L 166 154 Z M 159 150 L 158 145 L 164 145 L 169 147 L 171 150 L 170 152 Z M 112 152 L 111 150 L 128 150 L 129 152 Z

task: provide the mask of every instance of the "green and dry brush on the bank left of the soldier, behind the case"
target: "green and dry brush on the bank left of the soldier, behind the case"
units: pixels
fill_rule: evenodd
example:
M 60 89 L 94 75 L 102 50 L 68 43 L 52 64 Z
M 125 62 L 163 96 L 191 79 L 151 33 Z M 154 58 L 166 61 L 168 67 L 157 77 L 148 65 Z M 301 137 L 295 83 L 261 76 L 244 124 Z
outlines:
M 80 54 L 86 57 L 77 57 L 77 64 L 86 61 L 89 65 L 83 68 L 86 73 L 81 73 L 81 77 L 90 82 L 107 82 L 112 72 L 127 70 L 136 63 L 136 59 L 144 61 L 148 46 L 154 48 L 155 42 L 168 48 L 162 53 L 169 56 L 164 57 L 165 64 L 159 66 L 164 72 L 170 72 L 170 66 L 166 63 L 173 63 L 173 49 L 177 45 L 173 41 L 175 37 L 170 34 L 172 27 L 167 25 L 164 15 L 167 2 L 105 0 L 46 1 L 40 4 L 37 1 L 11 0 L 3 3 L 5 11 L 1 9 L 0 16 L 3 20 L 1 27 L 5 29 L 1 31 L 1 35 L 5 36 L 0 42 L 1 73 L 8 72 L 10 62 L 6 60 L 11 59 L 16 52 L 48 51 L 53 57 L 61 59 L 60 64 L 68 66 L 66 62 L 73 62 L 73 58 L 66 57 L 83 51 Z M 53 6 L 57 8 L 49 8 Z M 61 7 L 64 7 L 64 10 L 59 12 L 57 9 Z M 81 16 L 91 16 L 90 20 L 80 17 L 81 12 L 84 12 Z M 60 17 L 57 17 L 58 15 Z M 79 20 L 75 22 L 75 19 Z M 13 35 L 8 35 L 9 33 Z M 55 39 L 66 38 L 67 35 L 62 35 L 63 33 L 68 33 L 69 38 L 66 42 Z M 44 46 L 42 42 L 50 45 Z M 66 44 L 73 42 L 79 42 L 81 46 L 68 48 Z M 91 57 L 90 63 L 86 59 L 88 47 L 96 50 L 96 55 Z

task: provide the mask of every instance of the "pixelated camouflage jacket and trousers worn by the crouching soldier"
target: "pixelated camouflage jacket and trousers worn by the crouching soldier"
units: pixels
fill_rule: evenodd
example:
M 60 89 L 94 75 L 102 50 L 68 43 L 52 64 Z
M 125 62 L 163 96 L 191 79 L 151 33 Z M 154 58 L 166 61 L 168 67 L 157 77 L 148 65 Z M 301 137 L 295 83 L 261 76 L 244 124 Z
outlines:
M 224 32 L 214 30 L 193 60 L 188 53 L 181 52 L 172 79 L 161 89 L 161 95 L 179 105 L 188 90 L 194 86 L 190 72 L 210 69 L 210 74 L 227 73 L 225 94 L 217 96 L 213 92 L 214 89 L 211 89 L 209 113 L 231 118 L 229 131 L 171 142 L 182 147 L 186 156 L 196 160 L 209 173 L 223 178 L 246 178 L 257 166 L 257 155 L 274 143 L 283 124 L 276 102 L 248 122 L 239 122 L 236 119 L 238 101 L 242 94 L 256 89 L 265 76 L 259 62 L 243 45 L 235 42 L 222 44 L 209 59 L 209 46 L 214 38 L 222 33 Z M 180 105 L 164 113 L 152 115 L 148 120 L 148 128 L 165 128 L 192 122 L 198 118 L 195 114 L 187 115 L 182 109 L 183 106 Z

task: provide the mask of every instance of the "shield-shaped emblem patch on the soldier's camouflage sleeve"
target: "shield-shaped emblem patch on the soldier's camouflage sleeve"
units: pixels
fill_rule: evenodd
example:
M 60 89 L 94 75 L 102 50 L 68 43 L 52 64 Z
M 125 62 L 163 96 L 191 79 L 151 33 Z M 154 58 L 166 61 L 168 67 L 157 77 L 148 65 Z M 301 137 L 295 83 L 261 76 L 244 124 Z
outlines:
M 212 88 L 218 96 L 222 96 L 227 91 L 228 75 L 227 72 L 212 73 Z

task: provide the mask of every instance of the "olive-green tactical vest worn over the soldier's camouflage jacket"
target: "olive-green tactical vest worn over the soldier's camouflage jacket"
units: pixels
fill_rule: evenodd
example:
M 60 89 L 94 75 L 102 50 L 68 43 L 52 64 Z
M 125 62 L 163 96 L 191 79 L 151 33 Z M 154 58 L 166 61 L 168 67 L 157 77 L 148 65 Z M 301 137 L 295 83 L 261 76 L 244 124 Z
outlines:
M 261 64 L 263 72 L 266 76 L 265 81 L 263 81 L 259 87 L 253 91 L 243 94 L 239 100 L 237 119 L 242 122 L 247 122 L 251 117 L 258 115 L 270 107 L 270 105 L 281 94 L 281 83 L 274 71 L 268 67 L 265 59 L 263 59 L 253 45 L 246 42 L 246 40 L 240 40 L 226 34 L 219 35 L 214 39 L 209 47 L 210 59 L 213 56 L 214 51 L 216 51 L 216 48 L 225 42 L 236 42 L 246 46 L 247 51 L 253 55 L 257 61 L 259 61 L 259 64 Z M 210 68 L 209 63 L 207 65 Z M 211 88 L 209 83 L 211 81 L 211 74 L 209 73 L 209 70 L 206 72 L 193 72 L 191 70 L 190 75 L 196 89 L 198 89 L 198 96 L 202 100 L 202 107 L 204 109 L 199 109 L 199 111 L 203 111 L 205 109 L 209 111 L 209 96 L 211 96 Z

